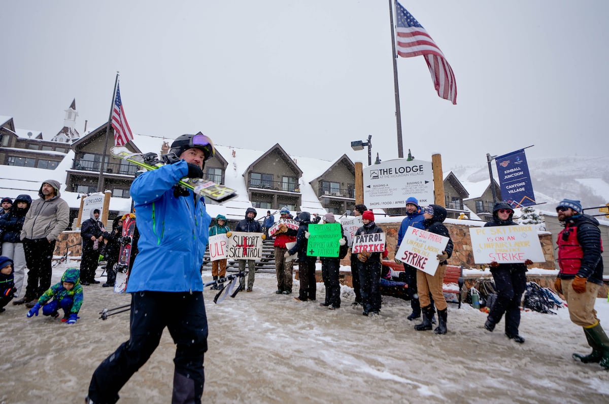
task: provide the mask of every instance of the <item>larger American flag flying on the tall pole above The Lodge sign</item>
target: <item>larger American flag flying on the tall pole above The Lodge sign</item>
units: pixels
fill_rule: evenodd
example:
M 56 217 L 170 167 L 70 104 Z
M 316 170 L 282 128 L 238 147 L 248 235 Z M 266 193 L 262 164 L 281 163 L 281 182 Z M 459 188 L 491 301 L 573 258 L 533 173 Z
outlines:
M 409 58 L 423 56 L 427 62 L 431 79 L 438 96 L 457 103 L 457 83 L 451 65 L 444 58 L 442 50 L 431 39 L 427 31 L 398 2 L 395 4 L 398 22 L 398 55 Z

